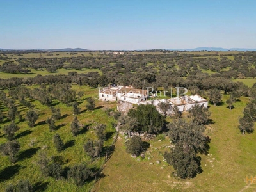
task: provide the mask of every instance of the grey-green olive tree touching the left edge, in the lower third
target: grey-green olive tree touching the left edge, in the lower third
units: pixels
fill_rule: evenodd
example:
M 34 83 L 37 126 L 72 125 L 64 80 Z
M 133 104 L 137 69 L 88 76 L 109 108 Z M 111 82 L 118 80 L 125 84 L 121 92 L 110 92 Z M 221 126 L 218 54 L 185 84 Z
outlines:
M 17 154 L 20 150 L 20 144 L 13 140 L 0 145 L 0 151 L 4 156 L 8 156 L 11 163 L 17 161 Z

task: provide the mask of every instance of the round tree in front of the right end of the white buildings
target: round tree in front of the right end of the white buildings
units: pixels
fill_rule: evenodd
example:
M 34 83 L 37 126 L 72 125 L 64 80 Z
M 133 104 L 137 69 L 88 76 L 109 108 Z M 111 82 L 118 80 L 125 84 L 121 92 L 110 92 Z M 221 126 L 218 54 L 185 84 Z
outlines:
M 211 112 L 208 108 L 204 108 L 204 106 L 200 104 L 194 105 L 188 112 L 189 116 L 192 117 L 193 122 L 200 125 L 207 124 L 208 118 L 211 116 Z

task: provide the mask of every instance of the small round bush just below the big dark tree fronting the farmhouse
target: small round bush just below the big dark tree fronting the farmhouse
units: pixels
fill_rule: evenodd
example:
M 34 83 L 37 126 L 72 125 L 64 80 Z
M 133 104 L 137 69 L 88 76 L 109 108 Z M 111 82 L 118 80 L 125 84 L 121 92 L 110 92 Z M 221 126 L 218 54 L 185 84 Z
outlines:
M 135 156 L 140 156 L 143 152 L 143 141 L 140 136 L 132 136 L 129 141 L 126 141 L 126 152 Z

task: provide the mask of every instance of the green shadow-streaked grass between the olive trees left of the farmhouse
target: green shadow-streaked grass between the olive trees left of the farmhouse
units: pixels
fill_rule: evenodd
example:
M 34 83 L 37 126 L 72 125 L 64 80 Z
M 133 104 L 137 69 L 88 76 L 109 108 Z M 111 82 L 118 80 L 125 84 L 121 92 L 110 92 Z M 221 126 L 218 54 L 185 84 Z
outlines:
M 115 130 L 111 125 L 113 118 L 102 111 L 103 103 L 97 102 L 97 108 L 93 111 L 87 111 L 85 108 L 86 98 L 96 97 L 97 89 L 92 89 L 88 86 L 73 86 L 72 88 L 76 91 L 85 91 L 85 95 L 82 97 L 79 106 L 82 112 L 77 115 L 78 120 L 89 127 L 95 125 L 95 122 L 106 124 L 108 140 L 104 142 L 104 145 L 111 145 L 113 142 L 112 136 Z M 46 151 L 49 156 L 63 156 L 65 162 L 63 167 L 73 166 L 74 164 L 80 163 L 86 163 L 90 167 L 99 167 L 104 161 L 104 158 L 90 163 L 90 158 L 86 156 L 83 149 L 83 145 L 88 138 L 96 138 L 93 129 L 83 129 L 81 134 L 77 137 L 72 136 L 70 132 L 70 124 L 74 119 L 72 107 L 67 107 L 55 100 L 54 104 L 61 109 L 63 118 L 56 121 L 58 130 L 50 132 L 48 125 L 45 124 L 45 120 L 47 117 L 51 116 L 51 110 L 49 107 L 43 106 L 38 101 L 31 100 L 31 102 L 35 105 L 36 111 L 40 114 L 39 119 L 36 121 L 36 126 L 33 128 L 29 128 L 26 121 L 18 122 L 18 120 L 16 120 L 18 123 L 17 125 L 20 127 L 20 130 L 15 134 L 17 141 L 19 141 L 21 145 L 19 161 L 15 164 L 11 164 L 8 161 L 8 157 L 0 156 L 0 191 L 4 191 L 6 185 L 10 183 L 15 184 L 20 179 L 28 179 L 32 184 L 38 184 L 42 189 L 45 188 L 45 191 L 89 191 L 94 182 L 90 182 L 82 188 L 77 188 L 74 184 L 65 179 L 56 181 L 51 177 L 44 177 L 36 165 L 36 161 L 38 159 L 38 153 L 40 152 L 39 148 L 44 146 L 46 148 L 44 151 Z M 108 107 L 115 108 L 113 104 L 109 104 Z M 3 105 L 1 105 L 0 108 L 6 113 L 7 109 L 3 108 Z M 24 106 L 19 105 L 19 111 L 23 115 L 23 118 L 27 110 L 28 109 L 24 108 Z M 10 122 L 5 119 L 4 124 L 1 124 L 0 144 L 7 141 L 3 136 L 3 126 L 9 123 Z M 60 153 L 56 152 L 52 142 L 52 137 L 56 133 L 60 134 L 61 139 L 66 143 L 65 150 Z

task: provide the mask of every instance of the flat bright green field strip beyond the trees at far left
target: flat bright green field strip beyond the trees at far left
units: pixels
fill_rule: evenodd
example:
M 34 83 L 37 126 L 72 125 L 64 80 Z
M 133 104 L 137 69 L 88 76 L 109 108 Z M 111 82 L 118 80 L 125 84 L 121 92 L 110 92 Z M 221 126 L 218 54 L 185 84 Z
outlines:
M 8 74 L 8 73 L 4 73 L 4 72 L 0 72 L 0 78 L 1 79 L 8 79 L 8 78 L 12 78 L 12 77 L 19 77 L 19 78 L 24 78 L 24 77 L 35 77 L 38 74 L 42 75 L 42 76 L 46 76 L 46 75 L 58 75 L 58 74 L 63 74 L 63 75 L 67 75 L 68 72 L 77 72 L 77 74 L 81 74 L 81 73 L 88 73 L 88 72 L 99 72 L 99 74 L 102 74 L 101 70 L 98 69 L 84 69 L 84 70 L 65 70 L 64 68 L 60 68 L 57 70 L 57 72 L 47 72 L 47 70 L 35 70 L 35 69 L 31 69 L 31 72 L 29 72 L 29 74 Z

